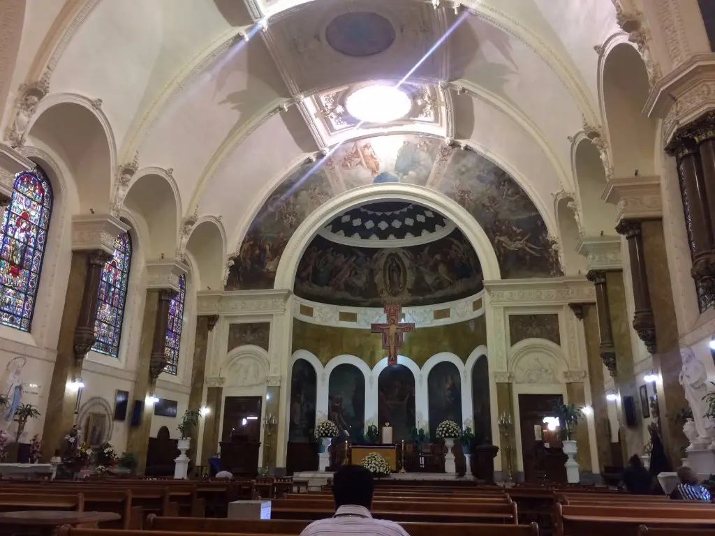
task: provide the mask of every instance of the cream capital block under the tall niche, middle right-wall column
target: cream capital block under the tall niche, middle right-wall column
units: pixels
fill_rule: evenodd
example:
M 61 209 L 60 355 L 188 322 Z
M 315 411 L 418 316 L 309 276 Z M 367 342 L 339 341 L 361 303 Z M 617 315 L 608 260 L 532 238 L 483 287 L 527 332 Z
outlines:
M 616 205 L 616 221 L 663 217 L 660 177 L 611 179 L 601 199 Z

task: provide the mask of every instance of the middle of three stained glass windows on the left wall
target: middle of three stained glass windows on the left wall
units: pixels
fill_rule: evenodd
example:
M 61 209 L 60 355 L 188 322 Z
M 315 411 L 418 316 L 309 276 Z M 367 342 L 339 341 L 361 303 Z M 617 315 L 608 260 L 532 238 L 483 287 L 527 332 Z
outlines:
M 129 233 L 120 234 L 114 240 L 114 257 L 104 264 L 102 279 L 99 281 L 97 319 L 94 321 L 94 337 L 97 342 L 92 347 L 94 352 L 112 357 L 119 355 L 131 264 L 132 239 Z

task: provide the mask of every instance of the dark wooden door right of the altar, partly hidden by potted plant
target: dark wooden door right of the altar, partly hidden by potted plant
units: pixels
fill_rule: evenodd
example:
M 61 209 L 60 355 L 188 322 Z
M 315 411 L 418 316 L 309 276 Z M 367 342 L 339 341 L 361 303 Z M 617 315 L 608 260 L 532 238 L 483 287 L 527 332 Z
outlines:
M 520 394 L 519 418 L 521 430 L 521 456 L 524 461 L 524 480 L 536 484 L 538 473 L 536 471 L 536 436 L 534 425 L 541 426 L 544 417 L 553 417 L 553 409 L 563 404 L 561 394 Z M 544 438 L 551 443 L 551 447 L 561 447 L 558 434 Z

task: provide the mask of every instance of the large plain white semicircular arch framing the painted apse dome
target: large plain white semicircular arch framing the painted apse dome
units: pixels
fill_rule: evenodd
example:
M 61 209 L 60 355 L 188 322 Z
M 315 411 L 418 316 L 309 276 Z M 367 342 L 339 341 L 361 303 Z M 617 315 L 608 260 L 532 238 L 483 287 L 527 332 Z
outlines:
M 368 184 L 330 199 L 312 212 L 295 230 L 283 252 L 275 277 L 275 289 L 292 289 L 295 273 L 305 248 L 332 217 L 350 207 L 380 199 L 402 199 L 431 207 L 452 219 L 474 248 L 484 279 L 501 279 L 499 263 L 484 229 L 467 210 L 444 194 L 414 184 Z

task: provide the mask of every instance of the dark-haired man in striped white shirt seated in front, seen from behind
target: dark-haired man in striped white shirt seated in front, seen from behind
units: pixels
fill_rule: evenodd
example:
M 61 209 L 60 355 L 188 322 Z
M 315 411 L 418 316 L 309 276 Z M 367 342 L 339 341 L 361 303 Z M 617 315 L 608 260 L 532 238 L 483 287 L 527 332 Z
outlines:
M 375 482 L 373 474 L 361 465 L 344 465 L 332 477 L 335 515 L 305 527 L 300 536 L 365 535 L 410 536 L 403 527 L 370 514 Z

